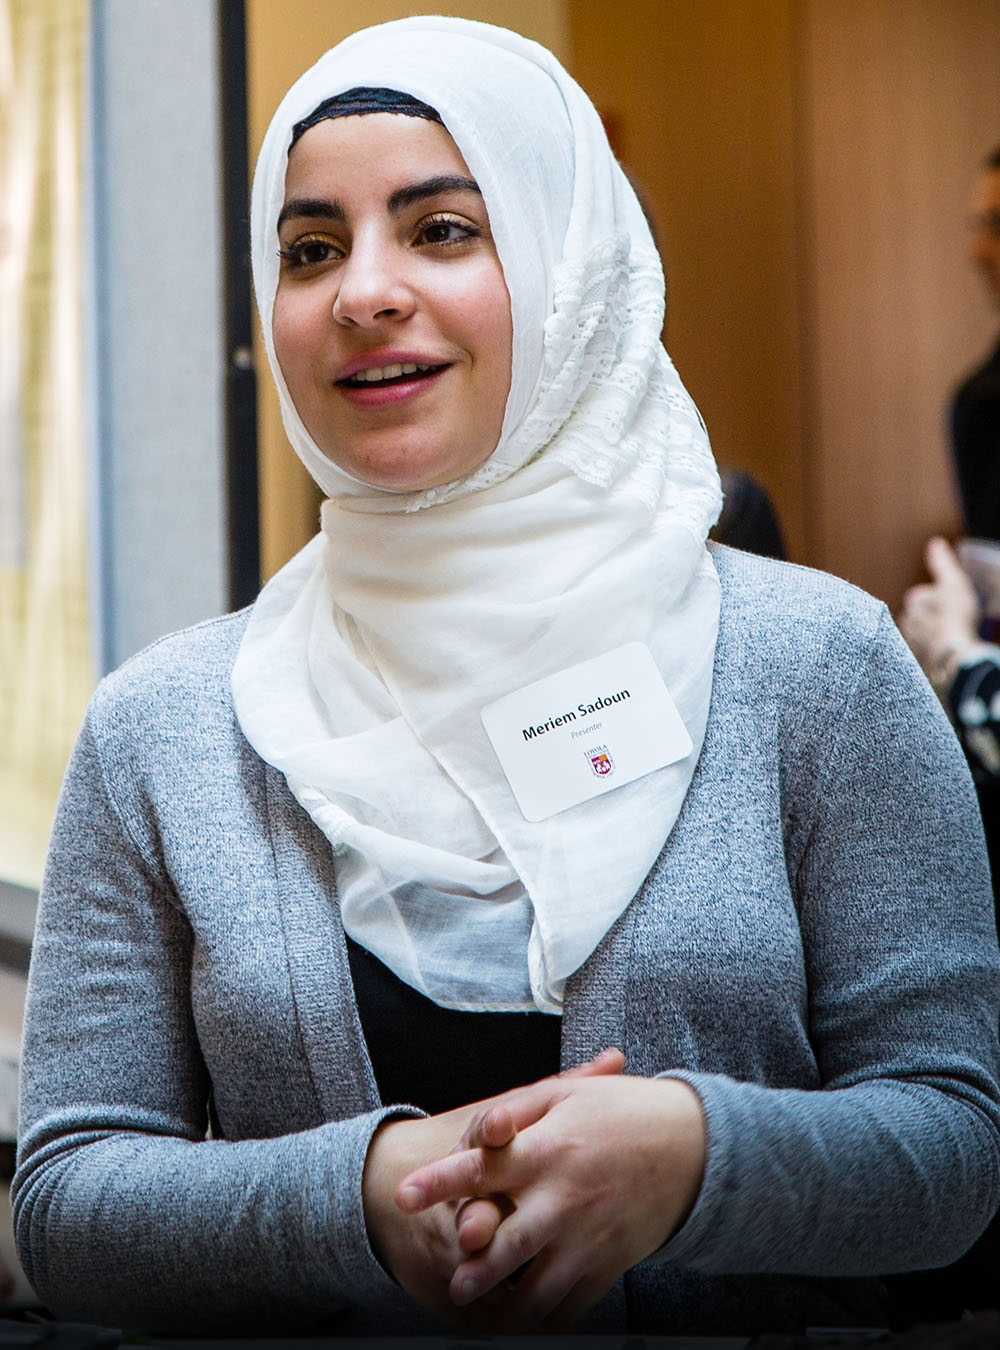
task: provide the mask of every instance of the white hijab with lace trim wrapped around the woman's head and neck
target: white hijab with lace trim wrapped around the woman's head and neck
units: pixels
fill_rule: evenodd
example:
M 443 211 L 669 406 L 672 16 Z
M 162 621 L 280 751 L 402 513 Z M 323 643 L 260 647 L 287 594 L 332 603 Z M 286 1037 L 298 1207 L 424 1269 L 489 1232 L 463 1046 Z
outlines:
M 440 113 L 483 193 L 510 292 L 513 370 L 493 455 L 387 493 L 337 470 L 271 339 L 294 123 L 354 86 Z M 711 693 L 721 491 L 660 343 L 664 284 L 583 90 L 544 47 L 460 19 L 354 34 L 282 100 L 254 180 L 265 342 L 323 531 L 260 593 L 233 668 L 240 726 L 337 855 L 345 930 L 447 1007 L 561 1008 L 684 801 Z M 480 722 L 501 695 L 645 643 L 684 760 L 528 822 Z

